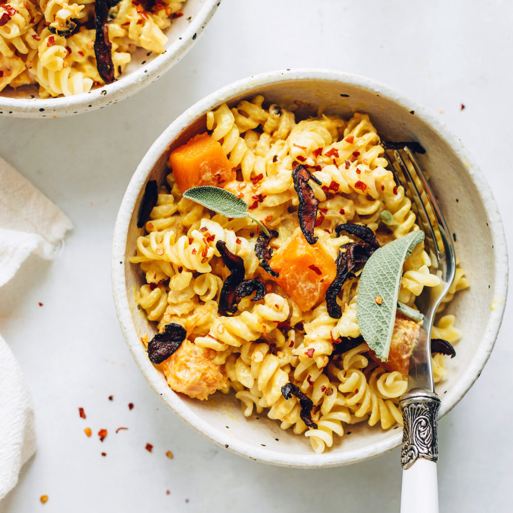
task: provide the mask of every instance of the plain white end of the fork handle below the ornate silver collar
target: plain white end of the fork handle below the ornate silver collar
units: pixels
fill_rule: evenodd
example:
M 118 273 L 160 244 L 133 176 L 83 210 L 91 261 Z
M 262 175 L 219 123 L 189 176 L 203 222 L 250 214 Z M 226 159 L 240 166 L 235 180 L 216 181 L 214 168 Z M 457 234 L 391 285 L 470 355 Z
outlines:
M 403 470 L 401 513 L 438 513 L 436 462 L 419 458 Z

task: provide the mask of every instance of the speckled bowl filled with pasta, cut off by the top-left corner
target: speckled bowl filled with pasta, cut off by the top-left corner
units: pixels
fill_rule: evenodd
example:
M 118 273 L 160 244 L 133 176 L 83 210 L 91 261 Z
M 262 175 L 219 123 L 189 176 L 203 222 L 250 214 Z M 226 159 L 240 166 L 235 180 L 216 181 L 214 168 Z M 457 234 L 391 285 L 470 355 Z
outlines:
M 117 103 L 179 61 L 220 4 L 103 1 L 110 7 L 105 15 L 112 62 L 102 57 L 100 65 L 97 51 L 105 56 L 110 49 L 100 44 L 96 50 L 94 0 L 14 0 L 0 6 L 0 114 L 64 116 Z

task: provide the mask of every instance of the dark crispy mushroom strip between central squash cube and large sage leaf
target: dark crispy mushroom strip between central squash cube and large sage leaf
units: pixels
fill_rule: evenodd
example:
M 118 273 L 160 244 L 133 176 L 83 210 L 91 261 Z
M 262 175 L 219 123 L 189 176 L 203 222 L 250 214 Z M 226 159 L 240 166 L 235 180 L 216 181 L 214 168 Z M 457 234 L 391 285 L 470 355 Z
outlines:
M 347 278 L 354 276 L 353 271 L 361 269 L 373 252 L 374 248 L 366 243 L 357 244 L 349 242 L 341 246 L 339 256 L 335 261 L 337 264 L 337 275 L 326 290 L 326 307 L 328 315 L 332 319 L 340 319 L 342 317 L 342 308 L 337 303 L 337 297 Z

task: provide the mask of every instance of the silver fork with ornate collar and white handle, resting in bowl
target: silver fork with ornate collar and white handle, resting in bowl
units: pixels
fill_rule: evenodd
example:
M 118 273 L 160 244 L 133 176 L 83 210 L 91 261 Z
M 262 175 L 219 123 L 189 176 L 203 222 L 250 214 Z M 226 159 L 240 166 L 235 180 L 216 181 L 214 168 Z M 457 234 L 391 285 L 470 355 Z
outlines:
M 455 277 L 455 250 L 437 198 L 410 149 L 405 146 L 387 150 L 385 156 L 396 183 L 404 187 L 417 213 L 431 268 L 441 279 L 440 286 L 424 287 L 417 299 L 424 321 L 410 357 L 408 388 L 399 401 L 403 415 L 401 513 L 438 513 L 437 430 L 441 401 L 433 382 L 430 340 L 435 313 Z

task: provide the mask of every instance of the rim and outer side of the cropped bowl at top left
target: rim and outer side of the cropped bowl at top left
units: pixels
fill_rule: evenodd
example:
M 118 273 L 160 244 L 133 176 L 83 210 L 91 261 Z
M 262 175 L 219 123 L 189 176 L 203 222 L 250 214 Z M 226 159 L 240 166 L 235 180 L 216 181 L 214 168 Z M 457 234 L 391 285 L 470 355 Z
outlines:
M 125 98 L 151 84 L 153 80 L 156 80 L 156 78 L 159 78 L 168 71 L 198 41 L 207 23 L 221 3 L 221 0 L 201 1 L 204 3 L 203 7 L 191 19 L 187 28 L 169 48 L 166 48 L 163 53 L 156 55 L 148 64 L 141 65 L 139 69 L 127 75 L 122 75 L 116 82 L 105 84 L 103 87 L 97 87 L 85 93 L 52 98 L 11 98 L 9 96 L 2 96 L 0 92 L 0 113 L 10 117 L 51 118 L 53 114 L 81 114 L 125 100 Z

